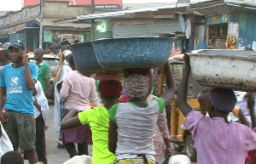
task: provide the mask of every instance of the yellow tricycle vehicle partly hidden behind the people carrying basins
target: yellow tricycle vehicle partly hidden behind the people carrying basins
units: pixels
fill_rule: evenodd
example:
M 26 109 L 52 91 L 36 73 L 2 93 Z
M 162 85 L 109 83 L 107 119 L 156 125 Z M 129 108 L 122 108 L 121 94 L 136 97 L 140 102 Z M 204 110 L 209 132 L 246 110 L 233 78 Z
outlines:
M 177 54 L 169 58 L 170 65 L 172 67 L 174 80 L 177 88 L 183 77 L 183 54 Z M 188 86 L 188 103 L 191 107 L 201 112 L 200 105 L 197 100 L 197 94 L 200 93 L 203 87 L 195 81 L 193 76 L 189 76 Z M 190 161 L 196 161 L 196 150 L 194 148 L 194 139 L 192 138 L 191 132 L 184 127 L 185 117 L 179 109 L 176 103 L 176 97 L 172 99 L 172 114 L 171 114 L 171 130 L 170 140 L 173 143 L 173 147 L 177 151 L 184 150 L 185 155 L 189 156 Z

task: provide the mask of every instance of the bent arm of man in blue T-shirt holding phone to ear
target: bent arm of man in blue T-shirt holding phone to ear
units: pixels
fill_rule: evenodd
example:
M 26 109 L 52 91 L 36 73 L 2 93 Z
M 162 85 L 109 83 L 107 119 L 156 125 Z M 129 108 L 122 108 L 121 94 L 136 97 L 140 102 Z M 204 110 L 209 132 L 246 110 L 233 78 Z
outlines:
M 28 90 L 32 90 L 33 88 L 35 88 L 35 83 L 36 83 L 36 81 L 32 78 L 32 74 L 35 74 L 34 76 L 37 76 L 37 78 L 35 79 L 38 79 L 38 67 L 35 65 L 34 67 L 35 70 L 31 73 L 31 71 L 29 70 L 28 56 L 26 54 L 26 51 L 22 52 L 22 57 L 23 57 L 23 63 L 25 65 L 24 74 L 25 74 L 26 88 Z

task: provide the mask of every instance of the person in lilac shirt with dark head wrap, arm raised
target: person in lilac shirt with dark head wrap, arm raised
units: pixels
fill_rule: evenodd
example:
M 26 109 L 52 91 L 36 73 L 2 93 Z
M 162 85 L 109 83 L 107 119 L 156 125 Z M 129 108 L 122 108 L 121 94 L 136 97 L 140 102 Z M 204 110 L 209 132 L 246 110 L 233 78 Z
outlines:
M 214 88 L 207 104 L 209 116 L 203 116 L 187 103 L 189 56 L 184 55 L 183 80 L 177 92 L 177 105 L 186 117 L 185 127 L 192 131 L 197 151 L 197 164 L 244 163 L 247 151 L 256 148 L 256 133 L 242 124 L 229 122 L 228 115 L 236 105 L 231 89 Z M 256 126 L 253 102 L 249 103 L 253 127 Z

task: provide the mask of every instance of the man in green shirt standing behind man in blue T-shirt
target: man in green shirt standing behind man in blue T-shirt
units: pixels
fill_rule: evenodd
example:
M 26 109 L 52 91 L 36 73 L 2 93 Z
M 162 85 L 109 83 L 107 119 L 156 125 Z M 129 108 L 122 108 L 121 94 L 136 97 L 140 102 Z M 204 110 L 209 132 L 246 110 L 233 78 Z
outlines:
M 44 49 L 37 48 L 34 52 L 36 65 L 38 65 L 38 81 L 41 82 L 44 93 L 49 88 L 49 78 L 50 78 L 50 71 L 49 65 L 44 62 Z

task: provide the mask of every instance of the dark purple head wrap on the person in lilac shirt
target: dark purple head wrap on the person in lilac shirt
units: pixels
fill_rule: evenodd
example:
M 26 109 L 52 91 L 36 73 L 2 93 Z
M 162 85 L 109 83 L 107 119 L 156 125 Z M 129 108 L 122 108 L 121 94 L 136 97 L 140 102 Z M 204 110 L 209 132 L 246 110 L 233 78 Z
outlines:
M 214 88 L 212 89 L 211 104 L 218 110 L 230 112 L 236 105 L 236 95 L 232 89 Z

